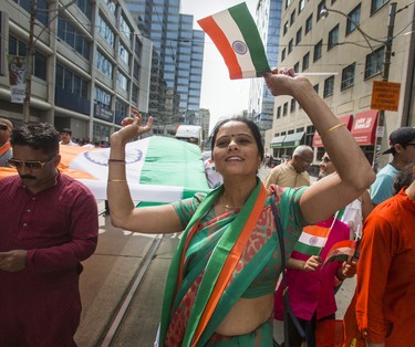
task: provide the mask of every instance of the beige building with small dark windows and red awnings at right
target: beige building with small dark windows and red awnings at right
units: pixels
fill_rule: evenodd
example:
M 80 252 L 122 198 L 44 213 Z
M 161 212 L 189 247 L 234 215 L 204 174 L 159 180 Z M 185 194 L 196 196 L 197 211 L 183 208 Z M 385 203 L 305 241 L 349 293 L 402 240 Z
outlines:
M 388 148 L 388 135 L 415 125 L 414 18 L 414 2 L 406 0 L 286 0 L 282 8 L 279 65 L 321 74 L 309 76 L 315 91 L 380 167 L 390 158 L 375 154 Z M 391 29 L 392 51 L 385 54 Z M 397 111 L 371 107 L 373 84 L 385 73 L 387 82 L 401 84 Z M 384 124 L 378 126 L 382 113 Z M 300 144 L 314 147 L 319 162 L 324 153 L 319 134 L 295 99 L 279 96 L 266 146 L 282 157 Z

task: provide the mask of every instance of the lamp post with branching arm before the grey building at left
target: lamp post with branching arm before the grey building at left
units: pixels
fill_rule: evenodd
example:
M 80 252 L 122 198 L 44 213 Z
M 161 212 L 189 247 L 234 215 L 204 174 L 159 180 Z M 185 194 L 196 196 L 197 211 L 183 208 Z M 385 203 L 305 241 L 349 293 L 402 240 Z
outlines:
M 59 0 L 58 0 L 59 1 Z M 42 28 L 38 35 L 34 35 L 34 22 L 37 15 L 37 0 L 31 0 L 31 8 L 30 8 L 30 28 L 29 28 L 29 42 L 28 42 L 28 52 L 27 52 L 27 71 L 25 71 L 25 91 L 24 91 L 24 101 L 23 101 L 23 122 L 29 123 L 30 120 L 30 97 L 32 94 L 32 73 L 33 73 L 33 54 L 34 54 L 34 46 L 45 31 L 45 29 L 50 25 L 50 23 L 58 18 L 60 12 L 66 10 L 71 4 L 75 3 L 76 0 L 71 0 L 66 4 L 64 4 L 61 9 L 58 8 L 58 13 L 53 15 L 48 23 Z M 59 7 L 59 4 L 58 4 Z

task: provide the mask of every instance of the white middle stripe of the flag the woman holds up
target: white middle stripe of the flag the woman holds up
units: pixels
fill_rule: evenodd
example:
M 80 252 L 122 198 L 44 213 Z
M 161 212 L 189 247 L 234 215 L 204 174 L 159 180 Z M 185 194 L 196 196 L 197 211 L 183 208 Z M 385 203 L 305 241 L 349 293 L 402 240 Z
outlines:
M 236 41 L 243 42 L 243 44 L 246 45 L 247 53 L 245 54 L 237 53 L 234 50 L 234 52 L 236 53 L 235 55 L 239 62 L 239 66 L 241 67 L 243 78 L 257 77 L 257 72 L 252 63 L 249 48 L 247 46 L 242 33 L 240 32 L 239 27 L 230 15 L 229 11 L 221 11 L 219 13 L 216 13 L 212 15 L 212 19 L 222 30 L 231 46 Z

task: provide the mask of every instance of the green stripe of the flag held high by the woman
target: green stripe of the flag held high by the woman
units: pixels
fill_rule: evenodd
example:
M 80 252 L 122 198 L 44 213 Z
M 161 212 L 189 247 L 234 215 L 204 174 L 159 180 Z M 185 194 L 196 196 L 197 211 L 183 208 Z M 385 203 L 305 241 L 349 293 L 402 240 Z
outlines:
M 267 71 L 270 71 L 266 51 L 258 28 L 250 14 L 245 2 L 229 8 L 229 13 L 239 27 L 240 32 L 248 45 L 252 63 L 257 71 L 257 76 L 262 76 Z

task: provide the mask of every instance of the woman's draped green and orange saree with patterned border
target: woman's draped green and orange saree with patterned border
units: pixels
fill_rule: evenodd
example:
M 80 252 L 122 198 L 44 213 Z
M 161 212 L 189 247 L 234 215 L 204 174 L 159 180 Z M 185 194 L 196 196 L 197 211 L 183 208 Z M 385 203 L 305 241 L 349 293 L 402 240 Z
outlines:
M 252 332 L 253 335 L 221 337 L 215 334 L 224 317 L 250 285 L 263 285 L 268 281 L 272 293 L 280 273 L 270 199 L 267 199 L 262 183 L 258 181 L 239 213 L 228 212 L 216 217 L 212 206 L 221 192 L 222 187 L 214 190 L 197 208 L 172 261 L 163 305 L 160 346 L 232 346 L 238 339 L 258 338 L 258 334 L 261 335 L 260 340 L 264 341 L 261 346 L 272 343 L 272 324 L 268 322 L 258 327 L 258 332 Z M 283 196 L 282 190 L 280 192 Z M 298 214 L 301 193 L 292 192 L 282 199 L 278 198 L 284 201 L 284 206 L 293 207 L 282 213 L 286 215 L 286 246 L 289 250 L 292 250 L 303 225 Z M 266 200 L 267 206 L 263 207 Z M 295 203 L 291 203 L 293 201 Z M 245 233 L 243 228 L 252 225 L 256 209 L 259 214 L 255 217 L 253 227 L 248 230 L 248 242 L 242 242 L 239 255 L 234 254 L 238 238 Z M 227 262 L 232 257 L 235 266 L 229 277 L 224 280 Z M 272 269 L 269 264 L 273 265 Z M 220 285 L 222 288 L 217 291 Z

